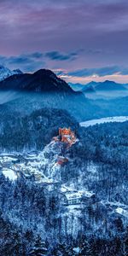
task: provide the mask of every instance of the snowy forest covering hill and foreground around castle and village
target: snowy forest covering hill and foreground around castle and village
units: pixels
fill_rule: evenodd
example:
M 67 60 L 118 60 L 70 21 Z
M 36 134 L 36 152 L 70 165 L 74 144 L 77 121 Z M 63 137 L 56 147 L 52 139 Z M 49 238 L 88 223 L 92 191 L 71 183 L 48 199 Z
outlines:
M 18 151 L 20 165 L 26 151 L 45 151 L 49 161 L 39 171 L 48 175 L 58 150 L 50 141 L 60 126 L 70 126 L 78 142 L 67 148 L 69 161 L 54 171 L 50 185 L 36 183 L 34 175 L 10 180 L 1 166 L 0 254 L 126 256 L 128 122 L 81 127 L 65 110 L 44 108 L 18 118 L 14 112 L 8 119 L 4 111 L 1 150 Z M 62 186 L 93 191 L 93 197 L 68 206 Z

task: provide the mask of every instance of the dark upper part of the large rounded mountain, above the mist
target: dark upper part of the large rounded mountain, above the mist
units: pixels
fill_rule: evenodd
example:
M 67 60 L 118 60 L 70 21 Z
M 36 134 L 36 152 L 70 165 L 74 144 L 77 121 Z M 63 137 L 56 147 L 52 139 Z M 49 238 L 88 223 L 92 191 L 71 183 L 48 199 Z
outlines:
M 40 69 L 36 73 L 14 74 L 0 82 L 0 90 L 73 93 L 64 80 L 59 79 L 55 73 L 47 69 Z

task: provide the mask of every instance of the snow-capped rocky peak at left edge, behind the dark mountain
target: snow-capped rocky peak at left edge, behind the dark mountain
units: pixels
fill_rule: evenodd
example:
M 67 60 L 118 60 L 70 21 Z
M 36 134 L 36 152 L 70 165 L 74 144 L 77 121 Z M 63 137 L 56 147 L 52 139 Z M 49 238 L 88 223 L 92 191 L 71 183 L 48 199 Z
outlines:
M 4 79 L 9 78 L 10 76 L 14 74 L 22 74 L 20 69 L 10 70 L 7 67 L 0 66 L 0 81 L 3 81 Z

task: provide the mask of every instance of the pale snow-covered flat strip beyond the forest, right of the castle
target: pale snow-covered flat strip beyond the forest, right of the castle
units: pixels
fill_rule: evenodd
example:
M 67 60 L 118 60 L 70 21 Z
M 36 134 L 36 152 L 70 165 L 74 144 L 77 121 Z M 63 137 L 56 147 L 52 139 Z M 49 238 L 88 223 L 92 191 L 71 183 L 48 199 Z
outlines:
M 80 126 L 88 127 L 93 125 L 100 125 L 103 123 L 112 123 L 112 122 L 119 122 L 123 123 L 125 121 L 128 121 L 128 116 L 114 116 L 114 117 L 108 117 L 108 118 L 102 118 L 102 119 L 92 119 L 89 121 L 81 122 Z

